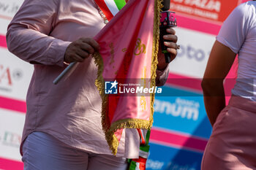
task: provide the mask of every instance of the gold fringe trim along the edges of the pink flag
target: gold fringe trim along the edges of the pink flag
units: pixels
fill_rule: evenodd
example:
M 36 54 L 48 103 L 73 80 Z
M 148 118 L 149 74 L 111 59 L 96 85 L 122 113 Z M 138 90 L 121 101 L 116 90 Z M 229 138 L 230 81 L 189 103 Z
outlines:
M 153 45 L 152 45 L 152 62 L 151 62 L 151 87 L 156 84 L 156 70 L 157 70 L 157 54 L 159 48 L 159 23 L 160 23 L 160 9 L 162 8 L 162 0 L 154 1 L 154 31 L 153 31 Z M 140 120 L 140 119 L 124 119 L 118 120 L 112 125 L 110 125 L 110 120 L 106 115 L 106 110 L 108 107 L 108 96 L 105 95 L 105 82 L 102 77 L 102 72 L 104 68 L 104 64 L 102 61 L 102 57 L 99 53 L 94 54 L 94 62 L 98 67 L 97 72 L 97 80 L 95 81 L 95 85 L 97 86 L 99 93 L 102 97 L 102 128 L 105 131 L 105 139 L 108 142 L 110 150 L 113 155 L 116 155 L 118 149 L 118 139 L 114 135 L 114 133 L 118 129 L 122 128 L 142 128 L 142 129 L 150 129 L 153 123 L 153 114 L 154 114 L 154 93 L 151 94 L 151 115 L 149 120 Z

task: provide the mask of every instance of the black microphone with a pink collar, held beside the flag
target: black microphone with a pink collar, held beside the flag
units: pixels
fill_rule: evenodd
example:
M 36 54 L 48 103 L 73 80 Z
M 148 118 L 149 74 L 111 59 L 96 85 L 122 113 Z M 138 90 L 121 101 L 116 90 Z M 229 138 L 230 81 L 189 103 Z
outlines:
M 162 53 L 165 54 L 165 62 L 170 63 L 170 53 L 167 52 L 167 47 L 164 45 L 166 40 L 164 40 L 162 36 L 167 34 L 167 28 L 177 26 L 176 13 L 168 11 L 170 9 L 170 0 L 163 0 L 162 5 L 163 7 L 160 18 L 160 43 Z

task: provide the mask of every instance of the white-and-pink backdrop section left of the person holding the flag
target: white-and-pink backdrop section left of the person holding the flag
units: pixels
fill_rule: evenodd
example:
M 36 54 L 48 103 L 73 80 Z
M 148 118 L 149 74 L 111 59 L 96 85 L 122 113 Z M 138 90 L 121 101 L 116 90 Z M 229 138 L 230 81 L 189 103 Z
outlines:
M 23 0 L 0 0 L 0 169 L 21 170 L 20 140 L 33 66 L 7 50 L 6 31 Z

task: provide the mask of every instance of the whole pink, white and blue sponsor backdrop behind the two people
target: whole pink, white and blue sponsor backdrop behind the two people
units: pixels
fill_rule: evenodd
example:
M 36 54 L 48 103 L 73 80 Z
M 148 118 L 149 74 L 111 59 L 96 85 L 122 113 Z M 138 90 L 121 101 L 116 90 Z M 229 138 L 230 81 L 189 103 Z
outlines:
M 19 144 L 33 66 L 8 52 L 5 41 L 7 26 L 22 3 L 23 0 L 0 0 L 0 169 L 4 170 L 23 169 Z M 203 77 L 215 36 L 239 3 L 239 0 L 171 0 L 170 10 L 177 14 L 175 29 L 181 49 L 170 63 L 170 81 L 164 87 L 168 95 L 156 96 L 146 169 L 200 169 L 211 134 L 203 96 L 198 82 L 177 85 L 172 79 Z

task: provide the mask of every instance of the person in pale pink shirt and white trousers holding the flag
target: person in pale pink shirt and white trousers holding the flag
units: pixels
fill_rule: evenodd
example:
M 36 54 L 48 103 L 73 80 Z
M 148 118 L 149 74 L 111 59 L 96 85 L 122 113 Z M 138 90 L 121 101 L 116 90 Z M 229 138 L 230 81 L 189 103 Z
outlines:
M 116 156 L 105 141 L 101 125 L 101 97 L 94 85 L 97 66 L 91 54 L 99 50 L 93 37 L 105 26 L 94 0 L 25 0 L 7 30 L 11 53 L 34 64 L 26 97 L 27 112 L 20 153 L 24 169 L 127 168 L 127 158 L 138 158 L 139 136 L 126 130 Z M 167 29 L 164 39 L 171 60 L 177 36 Z M 168 75 L 159 53 L 157 83 Z M 78 61 L 65 83 L 53 80 Z M 134 142 L 135 141 L 135 142 Z

